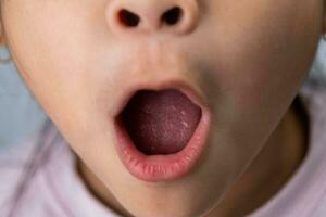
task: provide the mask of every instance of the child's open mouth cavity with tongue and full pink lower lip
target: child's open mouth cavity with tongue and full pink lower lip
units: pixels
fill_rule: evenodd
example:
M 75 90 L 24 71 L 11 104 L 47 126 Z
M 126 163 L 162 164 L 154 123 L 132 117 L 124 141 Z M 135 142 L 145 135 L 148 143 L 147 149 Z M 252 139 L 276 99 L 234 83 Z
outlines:
M 209 125 L 208 110 L 179 89 L 140 89 L 115 118 L 120 158 L 141 180 L 180 178 L 199 161 Z

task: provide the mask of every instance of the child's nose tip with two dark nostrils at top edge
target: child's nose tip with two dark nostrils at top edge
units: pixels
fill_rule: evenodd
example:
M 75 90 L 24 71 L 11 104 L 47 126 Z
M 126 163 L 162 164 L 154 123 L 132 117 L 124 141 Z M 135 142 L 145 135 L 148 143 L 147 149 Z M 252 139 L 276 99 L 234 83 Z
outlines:
M 197 0 L 112 0 L 106 20 L 117 37 L 159 31 L 185 35 L 198 25 L 198 11 Z

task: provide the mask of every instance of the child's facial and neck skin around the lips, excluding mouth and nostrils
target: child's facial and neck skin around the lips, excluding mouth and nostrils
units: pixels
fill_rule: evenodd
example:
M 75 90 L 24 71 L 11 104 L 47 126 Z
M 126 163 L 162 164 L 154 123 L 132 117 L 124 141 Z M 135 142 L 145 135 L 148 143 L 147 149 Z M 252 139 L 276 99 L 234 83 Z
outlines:
M 178 3 L 188 23 L 155 28 L 153 21 Z M 124 29 L 113 20 L 116 5 L 141 13 L 146 25 Z M 266 189 L 266 175 L 287 179 L 302 159 L 303 131 L 289 106 L 325 31 L 324 5 L 323 0 L 1 0 L 1 24 L 20 74 L 108 206 L 126 216 L 213 217 L 237 215 L 235 208 L 250 212 L 237 195 L 252 186 Z M 188 176 L 146 182 L 117 156 L 112 114 L 133 82 L 165 79 L 191 84 L 209 105 L 208 149 Z M 280 165 L 286 173 L 271 175 Z M 276 191 L 281 184 L 274 183 Z

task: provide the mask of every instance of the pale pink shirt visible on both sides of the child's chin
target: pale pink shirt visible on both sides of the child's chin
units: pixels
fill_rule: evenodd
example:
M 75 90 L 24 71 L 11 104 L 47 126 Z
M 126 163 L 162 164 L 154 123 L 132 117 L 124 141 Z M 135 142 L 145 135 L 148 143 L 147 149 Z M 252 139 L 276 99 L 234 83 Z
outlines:
M 299 95 L 310 118 L 309 152 L 283 189 L 250 217 L 326 216 L 326 86 L 306 82 Z M 0 152 L 0 217 L 120 216 L 88 191 L 75 155 L 51 122 L 40 136 Z

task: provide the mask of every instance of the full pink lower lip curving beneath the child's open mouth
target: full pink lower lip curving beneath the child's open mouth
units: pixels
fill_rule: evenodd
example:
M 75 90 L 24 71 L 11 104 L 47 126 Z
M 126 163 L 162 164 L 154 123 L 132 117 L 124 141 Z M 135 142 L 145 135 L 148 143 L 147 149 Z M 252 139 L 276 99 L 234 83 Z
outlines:
M 138 151 L 124 128 L 121 118 L 115 120 L 117 153 L 136 178 L 150 182 L 172 181 L 185 177 L 202 156 L 211 123 L 209 111 L 202 111 L 201 120 L 188 144 L 181 151 L 168 155 L 146 155 Z

